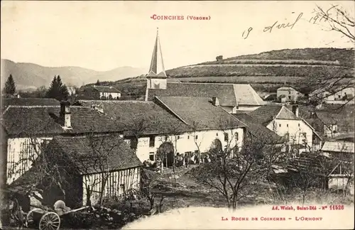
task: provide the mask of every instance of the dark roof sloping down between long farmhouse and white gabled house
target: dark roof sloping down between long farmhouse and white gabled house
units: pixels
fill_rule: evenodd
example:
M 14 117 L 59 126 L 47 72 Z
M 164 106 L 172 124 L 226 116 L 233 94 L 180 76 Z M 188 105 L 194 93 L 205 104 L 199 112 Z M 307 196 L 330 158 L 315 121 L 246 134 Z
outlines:
M 278 134 L 274 133 L 270 129 L 266 128 L 262 124 L 259 124 L 248 114 L 233 114 L 239 121 L 246 124 L 246 129 L 251 132 L 253 136 L 263 141 L 270 143 L 282 143 L 283 140 Z

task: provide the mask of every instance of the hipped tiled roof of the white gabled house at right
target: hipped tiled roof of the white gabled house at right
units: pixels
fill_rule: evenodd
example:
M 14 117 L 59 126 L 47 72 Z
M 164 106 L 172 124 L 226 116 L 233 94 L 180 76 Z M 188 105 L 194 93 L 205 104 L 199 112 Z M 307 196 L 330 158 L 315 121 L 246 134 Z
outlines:
M 267 125 L 270 121 L 273 121 L 273 119 L 301 120 L 285 106 L 274 104 L 261 106 L 258 109 L 251 111 L 249 115 L 263 125 Z

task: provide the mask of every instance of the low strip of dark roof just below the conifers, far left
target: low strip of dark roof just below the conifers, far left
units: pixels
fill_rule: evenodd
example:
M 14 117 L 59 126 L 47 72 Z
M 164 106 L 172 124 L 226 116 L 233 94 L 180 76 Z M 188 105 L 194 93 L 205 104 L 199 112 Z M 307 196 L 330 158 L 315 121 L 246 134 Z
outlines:
M 52 98 L 4 98 L 1 110 L 8 106 L 59 106 L 60 102 Z

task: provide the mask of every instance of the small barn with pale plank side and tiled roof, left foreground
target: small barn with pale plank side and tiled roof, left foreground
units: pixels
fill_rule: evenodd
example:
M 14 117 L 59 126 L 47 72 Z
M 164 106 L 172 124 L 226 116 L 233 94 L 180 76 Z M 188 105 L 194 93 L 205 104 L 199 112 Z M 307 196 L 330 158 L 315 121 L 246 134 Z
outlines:
M 53 138 L 46 150 L 60 169 L 65 193 L 51 190 L 48 197 L 65 199 L 73 207 L 102 204 L 137 190 L 141 161 L 126 142 L 115 135 Z

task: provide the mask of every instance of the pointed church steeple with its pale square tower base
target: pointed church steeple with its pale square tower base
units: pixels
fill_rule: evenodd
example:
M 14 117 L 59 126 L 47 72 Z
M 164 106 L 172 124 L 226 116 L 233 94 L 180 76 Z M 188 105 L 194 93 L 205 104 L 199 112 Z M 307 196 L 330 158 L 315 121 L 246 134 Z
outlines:
M 160 64 L 160 65 L 159 65 Z M 148 89 L 166 89 L 167 76 L 164 68 L 163 55 L 161 53 L 159 33 L 157 28 L 153 55 L 151 59 L 151 66 L 149 67 L 147 78 L 146 99 L 148 96 Z

